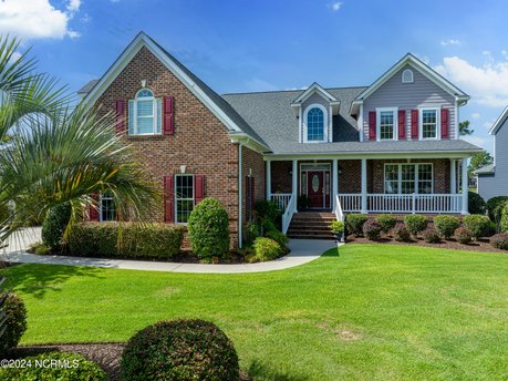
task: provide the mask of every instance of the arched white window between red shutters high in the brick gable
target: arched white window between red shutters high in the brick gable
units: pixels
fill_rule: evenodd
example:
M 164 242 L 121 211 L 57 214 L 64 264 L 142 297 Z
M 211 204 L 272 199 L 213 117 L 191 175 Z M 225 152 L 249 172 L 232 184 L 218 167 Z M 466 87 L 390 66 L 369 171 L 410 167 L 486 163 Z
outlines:
M 148 89 L 142 89 L 128 101 L 128 134 L 160 134 L 162 101 Z

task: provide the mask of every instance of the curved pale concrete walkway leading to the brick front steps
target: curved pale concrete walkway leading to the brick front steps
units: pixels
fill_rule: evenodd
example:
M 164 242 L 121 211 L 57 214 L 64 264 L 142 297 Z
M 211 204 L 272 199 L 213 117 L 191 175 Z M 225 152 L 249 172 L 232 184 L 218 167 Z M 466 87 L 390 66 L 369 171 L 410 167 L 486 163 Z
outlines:
M 282 270 L 310 262 L 321 256 L 325 250 L 336 247 L 333 240 L 291 239 L 291 253 L 282 258 L 259 264 L 240 265 L 201 265 L 177 264 L 164 261 L 101 259 L 69 256 L 38 256 L 29 254 L 25 249 L 31 243 L 40 240 L 40 230 L 29 229 L 20 237 L 12 238 L 4 248 L 1 259 L 10 262 L 90 266 L 101 268 L 120 268 L 128 270 L 168 271 L 168 272 L 203 272 L 203 274 L 241 274 Z

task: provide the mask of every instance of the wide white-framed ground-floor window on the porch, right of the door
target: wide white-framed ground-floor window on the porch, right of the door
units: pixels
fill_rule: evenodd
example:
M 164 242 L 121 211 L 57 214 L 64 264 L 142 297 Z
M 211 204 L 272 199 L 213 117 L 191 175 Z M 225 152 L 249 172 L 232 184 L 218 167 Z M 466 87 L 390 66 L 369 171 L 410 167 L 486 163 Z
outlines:
M 432 194 L 433 165 L 425 164 L 385 164 L 385 194 Z

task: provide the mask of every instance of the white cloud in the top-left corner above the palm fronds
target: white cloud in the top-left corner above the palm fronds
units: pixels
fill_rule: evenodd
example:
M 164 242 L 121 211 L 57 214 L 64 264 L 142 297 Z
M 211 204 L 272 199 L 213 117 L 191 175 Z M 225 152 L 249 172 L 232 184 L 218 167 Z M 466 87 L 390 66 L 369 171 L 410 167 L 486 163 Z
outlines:
M 0 1 L 0 33 L 23 39 L 63 39 L 80 34 L 69 22 L 80 10 L 81 0 L 70 0 L 65 10 L 55 9 L 50 0 Z

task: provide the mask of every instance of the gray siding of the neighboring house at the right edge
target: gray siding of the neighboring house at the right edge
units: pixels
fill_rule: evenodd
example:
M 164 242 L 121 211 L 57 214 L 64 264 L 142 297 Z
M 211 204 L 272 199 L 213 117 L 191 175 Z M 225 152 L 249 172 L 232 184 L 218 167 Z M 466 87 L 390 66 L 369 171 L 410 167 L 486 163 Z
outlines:
M 508 120 L 495 136 L 496 168 L 494 175 L 478 176 L 478 194 L 485 200 L 496 196 L 508 196 Z

